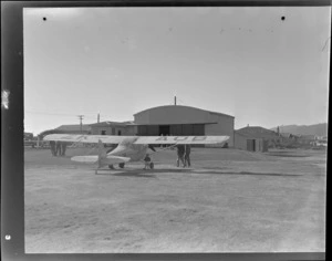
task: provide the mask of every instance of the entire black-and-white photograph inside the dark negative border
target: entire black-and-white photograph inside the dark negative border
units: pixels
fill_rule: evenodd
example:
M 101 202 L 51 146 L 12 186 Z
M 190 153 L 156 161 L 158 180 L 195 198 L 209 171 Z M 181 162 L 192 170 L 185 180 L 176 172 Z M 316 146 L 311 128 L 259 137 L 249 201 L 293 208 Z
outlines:
M 23 8 L 25 253 L 324 252 L 331 7 Z

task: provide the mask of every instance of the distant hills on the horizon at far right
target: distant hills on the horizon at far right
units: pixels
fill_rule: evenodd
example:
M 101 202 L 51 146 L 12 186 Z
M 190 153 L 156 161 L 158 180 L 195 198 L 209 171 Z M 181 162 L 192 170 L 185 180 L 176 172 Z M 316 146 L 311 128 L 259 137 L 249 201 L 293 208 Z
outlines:
M 328 136 L 328 124 L 320 123 L 313 125 L 280 125 L 280 133 L 291 133 L 300 135 L 317 135 L 317 136 Z M 277 132 L 277 127 L 271 128 L 271 130 Z

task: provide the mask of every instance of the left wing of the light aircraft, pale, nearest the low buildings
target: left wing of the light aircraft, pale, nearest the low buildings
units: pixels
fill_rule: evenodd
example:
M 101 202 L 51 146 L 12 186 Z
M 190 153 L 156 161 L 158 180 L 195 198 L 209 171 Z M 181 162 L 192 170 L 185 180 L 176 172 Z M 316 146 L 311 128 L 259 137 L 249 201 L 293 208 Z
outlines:
M 126 138 L 135 136 L 115 136 L 115 135 L 76 135 L 76 134 L 50 134 L 43 140 L 70 142 L 70 143 L 102 143 L 118 144 Z

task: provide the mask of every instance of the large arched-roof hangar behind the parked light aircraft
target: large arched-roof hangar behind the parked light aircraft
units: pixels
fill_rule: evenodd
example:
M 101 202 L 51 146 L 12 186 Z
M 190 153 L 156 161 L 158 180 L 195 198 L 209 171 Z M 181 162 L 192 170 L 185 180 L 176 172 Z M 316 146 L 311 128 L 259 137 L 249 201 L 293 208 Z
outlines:
M 137 135 L 227 135 L 234 146 L 235 117 L 190 106 L 166 105 L 134 114 Z

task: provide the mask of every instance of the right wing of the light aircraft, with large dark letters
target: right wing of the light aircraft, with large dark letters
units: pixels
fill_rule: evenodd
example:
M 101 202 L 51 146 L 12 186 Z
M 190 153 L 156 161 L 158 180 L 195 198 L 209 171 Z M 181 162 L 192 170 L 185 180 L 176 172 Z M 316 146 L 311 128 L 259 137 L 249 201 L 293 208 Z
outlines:
M 229 136 L 139 136 L 134 144 L 224 144 Z

